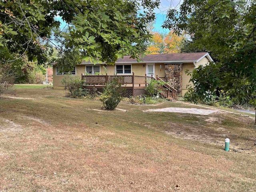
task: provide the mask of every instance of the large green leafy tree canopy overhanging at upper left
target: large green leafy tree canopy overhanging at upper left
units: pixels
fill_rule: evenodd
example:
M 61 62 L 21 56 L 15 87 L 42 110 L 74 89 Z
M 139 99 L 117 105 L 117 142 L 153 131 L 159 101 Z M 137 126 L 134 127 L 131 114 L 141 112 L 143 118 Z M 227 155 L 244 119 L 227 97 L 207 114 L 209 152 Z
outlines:
M 68 24 L 69 47 L 92 62 L 113 63 L 127 54 L 138 58 L 150 38 L 158 0 L 4 0 L 0 1 L 0 46 L 18 57 L 46 61 L 52 28 L 61 16 Z M 143 14 L 138 12 L 145 8 Z M 66 45 L 68 46 L 68 45 Z

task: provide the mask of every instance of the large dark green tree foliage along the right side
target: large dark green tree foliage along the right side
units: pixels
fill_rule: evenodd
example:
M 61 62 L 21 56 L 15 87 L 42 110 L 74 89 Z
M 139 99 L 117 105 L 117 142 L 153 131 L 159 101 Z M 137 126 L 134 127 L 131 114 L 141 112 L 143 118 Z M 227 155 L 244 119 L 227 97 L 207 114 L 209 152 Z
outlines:
M 216 58 L 194 71 L 190 99 L 208 99 L 224 90 L 235 102 L 255 102 L 255 1 L 184 0 L 179 11 L 169 10 L 163 26 L 176 33 L 186 30 L 197 49 Z

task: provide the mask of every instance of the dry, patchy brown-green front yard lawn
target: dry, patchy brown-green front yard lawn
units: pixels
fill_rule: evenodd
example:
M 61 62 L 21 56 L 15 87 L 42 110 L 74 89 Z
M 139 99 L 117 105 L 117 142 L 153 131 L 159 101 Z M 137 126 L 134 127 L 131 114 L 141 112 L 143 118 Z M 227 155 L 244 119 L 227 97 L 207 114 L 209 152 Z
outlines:
M 253 118 L 144 112 L 204 108 L 182 102 L 106 111 L 64 90 L 16 92 L 0 99 L 0 192 L 256 191 Z

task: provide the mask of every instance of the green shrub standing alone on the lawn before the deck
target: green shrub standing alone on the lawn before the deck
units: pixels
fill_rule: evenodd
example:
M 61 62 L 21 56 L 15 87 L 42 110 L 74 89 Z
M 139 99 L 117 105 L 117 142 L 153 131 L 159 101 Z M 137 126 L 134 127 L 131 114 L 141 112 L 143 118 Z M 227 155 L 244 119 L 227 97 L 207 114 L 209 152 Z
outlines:
M 121 87 L 121 83 L 118 78 L 113 78 L 106 83 L 103 93 L 100 96 L 100 101 L 103 102 L 103 106 L 107 110 L 115 110 L 118 103 L 122 100 L 122 93 L 124 89 Z

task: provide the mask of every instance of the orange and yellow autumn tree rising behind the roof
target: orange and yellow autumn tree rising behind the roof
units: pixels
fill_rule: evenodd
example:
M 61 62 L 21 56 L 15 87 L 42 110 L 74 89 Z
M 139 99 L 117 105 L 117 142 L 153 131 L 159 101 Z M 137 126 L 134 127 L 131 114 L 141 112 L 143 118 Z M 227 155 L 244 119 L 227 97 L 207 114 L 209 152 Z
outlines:
M 152 41 L 150 42 L 146 54 L 166 54 L 179 53 L 184 33 L 178 36 L 170 31 L 168 34 L 160 32 L 152 32 Z

